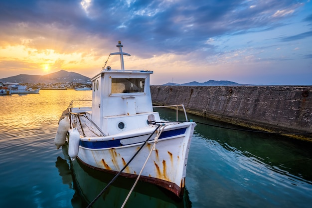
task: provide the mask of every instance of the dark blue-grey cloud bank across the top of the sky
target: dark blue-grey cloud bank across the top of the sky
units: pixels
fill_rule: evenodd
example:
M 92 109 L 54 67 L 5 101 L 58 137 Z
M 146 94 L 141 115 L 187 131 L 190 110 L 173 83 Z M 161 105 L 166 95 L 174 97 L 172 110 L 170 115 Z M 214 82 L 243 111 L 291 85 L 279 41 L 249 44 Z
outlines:
M 298 6 L 289 0 L 15 0 L 1 4 L 0 19 L 5 17 L 7 28 L 22 22 L 29 26 L 28 38 L 51 36 L 48 33 L 53 30 L 64 31 L 65 37 L 60 38 L 74 45 L 88 35 L 114 37 L 139 45 L 147 57 L 177 51 L 187 54 L 216 36 L 278 26 L 270 16 L 283 17 Z

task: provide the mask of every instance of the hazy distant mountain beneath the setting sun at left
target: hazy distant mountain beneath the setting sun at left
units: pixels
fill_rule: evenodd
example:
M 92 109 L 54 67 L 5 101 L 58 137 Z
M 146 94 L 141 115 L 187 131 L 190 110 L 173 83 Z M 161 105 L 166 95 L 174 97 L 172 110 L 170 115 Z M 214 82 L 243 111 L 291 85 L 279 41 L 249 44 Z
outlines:
M 77 83 L 90 83 L 90 78 L 83 76 L 75 72 L 68 72 L 60 70 L 55 73 L 47 75 L 28 75 L 19 74 L 7 78 L 1 78 L 1 82 L 17 82 L 17 83 L 66 83 L 66 82 L 77 82 Z

